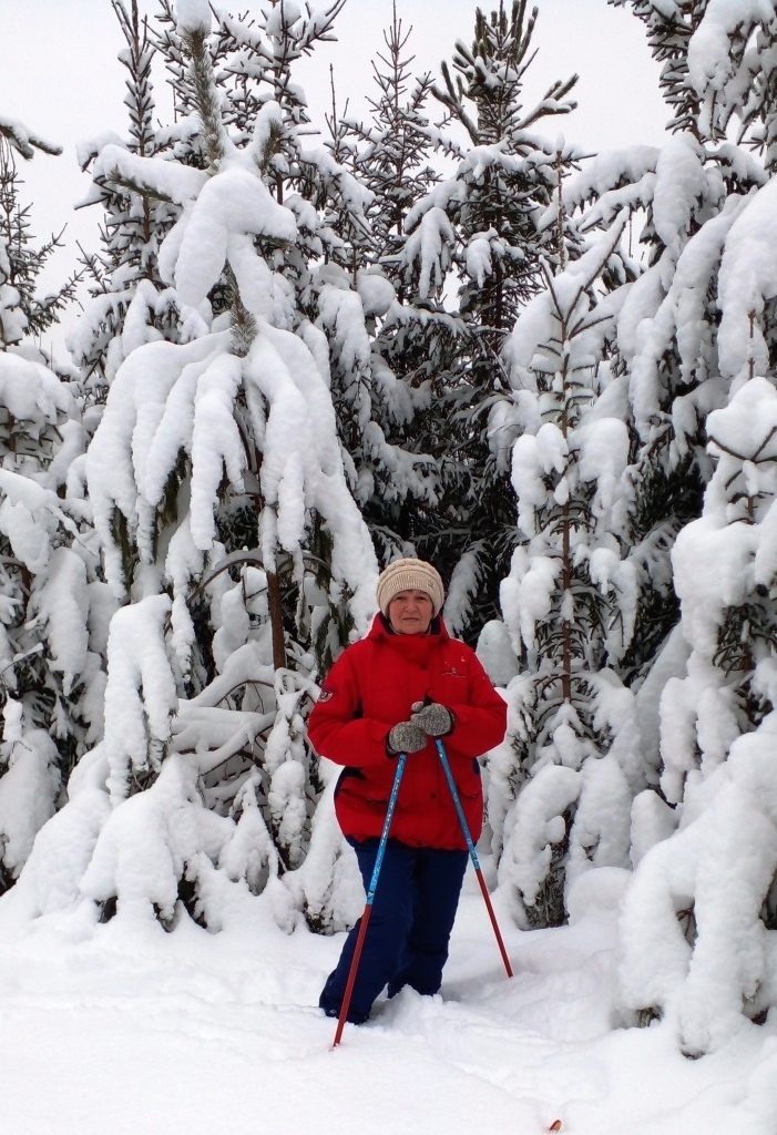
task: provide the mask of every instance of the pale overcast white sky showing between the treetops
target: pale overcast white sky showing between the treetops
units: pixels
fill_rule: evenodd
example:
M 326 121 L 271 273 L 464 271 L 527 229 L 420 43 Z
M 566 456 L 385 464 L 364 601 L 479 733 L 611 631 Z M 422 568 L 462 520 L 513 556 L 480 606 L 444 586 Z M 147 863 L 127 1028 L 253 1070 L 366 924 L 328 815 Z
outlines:
M 497 0 L 498 2 L 498 0 Z M 507 0 L 509 2 L 509 0 Z M 324 7 L 326 0 L 312 0 Z M 640 22 L 607 0 L 537 0 L 534 35 L 539 49 L 527 81 L 529 102 L 557 78 L 580 74 L 580 109 L 540 129 L 554 137 L 602 150 L 630 143 L 659 143 L 668 115 L 658 92 L 658 67 L 650 58 Z M 127 7 L 129 7 L 127 0 Z M 155 0 L 140 0 L 142 11 Z M 439 74 L 456 40 L 471 42 L 473 0 L 397 0 L 417 73 Z M 481 3 L 490 11 L 497 3 Z M 531 7 L 531 5 L 530 5 Z M 259 0 L 239 0 L 235 10 L 259 11 Z M 335 67 L 338 101 L 356 111 L 372 86 L 370 60 L 382 48 L 391 0 L 348 0 L 337 24 L 338 42 L 322 44 L 298 72 L 314 119 L 329 109 L 329 65 Z M 60 158 L 39 154 L 25 163 L 24 202 L 33 202 L 33 232 L 40 238 L 68 225 L 69 245 L 94 243 L 95 210 L 74 213 L 87 178 L 78 170 L 78 140 L 126 131 L 125 69 L 117 59 L 124 41 L 110 0 L 0 0 L 0 114 L 64 146 Z M 164 94 L 158 101 L 164 104 Z M 74 253 L 75 255 L 75 253 Z M 61 275 L 73 257 L 61 261 Z M 47 284 L 50 283 L 47 279 Z M 53 283 L 53 280 L 51 281 Z

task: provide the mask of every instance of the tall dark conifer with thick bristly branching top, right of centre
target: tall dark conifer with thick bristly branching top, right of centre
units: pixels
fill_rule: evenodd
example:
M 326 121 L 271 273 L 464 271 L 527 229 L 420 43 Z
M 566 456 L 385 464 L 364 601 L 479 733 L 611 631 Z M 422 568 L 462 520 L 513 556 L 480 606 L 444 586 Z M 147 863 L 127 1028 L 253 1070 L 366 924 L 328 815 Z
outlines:
M 445 472 L 437 539 L 430 554 L 453 569 L 446 612 L 461 633 L 497 611 L 499 580 L 514 543 L 515 497 L 487 436 L 495 400 L 508 395 L 501 347 L 515 318 L 540 286 L 540 254 L 557 254 L 539 219 L 557 182 L 557 146 L 535 133 L 546 117 L 572 110 L 575 78 L 554 83 L 524 106 L 537 9 L 525 0 L 475 15 L 472 47 L 456 43 L 434 95 L 447 110 L 445 150 L 454 171 L 411 210 L 405 260 L 417 272 L 421 301 L 440 301 L 458 285 L 466 336 L 433 389 L 420 443 Z M 563 150 L 566 166 L 573 154 Z M 422 437 L 423 437 L 422 432 Z M 445 442 L 441 443 L 441 439 Z M 442 452 L 445 451 L 445 452 Z M 451 539 L 450 535 L 456 538 Z

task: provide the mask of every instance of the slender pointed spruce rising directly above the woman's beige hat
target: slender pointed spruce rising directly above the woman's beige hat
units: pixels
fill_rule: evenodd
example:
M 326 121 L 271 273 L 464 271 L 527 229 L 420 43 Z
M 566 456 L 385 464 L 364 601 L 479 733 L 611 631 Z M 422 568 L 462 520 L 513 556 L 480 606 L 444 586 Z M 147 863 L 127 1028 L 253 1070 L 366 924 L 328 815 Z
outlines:
M 378 52 L 372 64 L 378 91 L 368 99 L 370 117 L 348 118 L 347 108 L 346 117 L 339 117 L 332 84 L 328 119 L 332 155 L 371 194 L 366 232 L 332 217 L 343 238 L 343 249 L 332 250 L 332 257 L 356 280 L 366 316 L 369 381 L 362 414 L 369 407 L 371 420 L 366 429 L 352 427 L 351 444 L 341 436 L 356 466 L 362 514 L 383 562 L 397 554 L 436 555 L 431 530 L 439 522 L 444 446 L 438 439 L 434 452 L 426 448 L 428 418 L 463 330 L 437 297 L 420 300 L 417 271 L 404 259 L 409 209 L 439 178 L 429 165 L 432 81 L 429 75 L 411 78 L 411 32 L 403 30 L 395 6 L 383 32 L 385 53 Z M 368 346 L 368 339 L 362 343 Z M 345 424 L 353 418 L 349 392 L 355 387 L 340 385 L 346 397 L 338 418 Z

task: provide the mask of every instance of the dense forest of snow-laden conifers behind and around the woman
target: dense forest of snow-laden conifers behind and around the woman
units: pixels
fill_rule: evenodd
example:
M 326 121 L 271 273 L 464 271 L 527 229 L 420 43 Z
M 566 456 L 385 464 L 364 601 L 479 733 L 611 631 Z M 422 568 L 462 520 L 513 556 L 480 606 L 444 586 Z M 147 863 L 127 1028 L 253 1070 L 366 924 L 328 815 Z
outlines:
M 313 121 L 347 0 L 111 0 L 100 241 L 48 294 L 23 174 L 58 146 L 0 106 L 0 935 L 218 934 L 237 893 L 353 925 L 305 722 L 412 555 L 508 704 L 514 924 L 615 868 L 624 1027 L 698 1057 L 774 1024 L 777 0 L 606 2 L 660 146 L 565 136 L 541 2 L 473 7 L 422 75 L 398 6 L 369 115 L 335 75 Z

